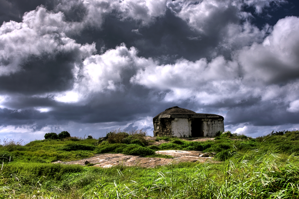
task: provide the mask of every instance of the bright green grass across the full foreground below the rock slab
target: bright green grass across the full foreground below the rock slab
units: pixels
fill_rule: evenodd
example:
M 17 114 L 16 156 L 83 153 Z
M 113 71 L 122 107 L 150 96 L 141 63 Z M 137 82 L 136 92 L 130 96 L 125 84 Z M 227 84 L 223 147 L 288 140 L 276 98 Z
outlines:
M 105 169 L 21 163 L 4 171 L 0 193 L 6 198 L 299 198 L 298 157 L 264 149 L 214 164 Z

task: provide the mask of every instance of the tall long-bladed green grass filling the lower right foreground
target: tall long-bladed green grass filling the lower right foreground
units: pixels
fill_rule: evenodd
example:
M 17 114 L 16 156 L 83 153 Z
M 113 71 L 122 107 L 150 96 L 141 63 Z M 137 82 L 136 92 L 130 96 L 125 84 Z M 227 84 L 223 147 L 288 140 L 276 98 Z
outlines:
M 283 161 L 282 161 L 283 160 Z M 299 198 L 298 157 L 252 150 L 228 159 L 218 169 L 209 164 L 174 167 L 150 173 L 148 181 L 130 169 L 119 178 L 102 178 L 87 198 Z M 190 169 L 187 171 L 187 169 Z M 141 179 L 141 180 L 140 180 Z

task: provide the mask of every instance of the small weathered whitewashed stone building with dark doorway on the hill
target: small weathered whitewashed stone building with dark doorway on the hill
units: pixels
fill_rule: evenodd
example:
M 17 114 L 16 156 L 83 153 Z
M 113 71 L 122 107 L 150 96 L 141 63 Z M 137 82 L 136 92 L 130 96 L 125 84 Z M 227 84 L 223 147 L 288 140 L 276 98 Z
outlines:
M 221 115 L 196 113 L 180 107 L 171 107 L 155 116 L 154 136 L 205 137 L 224 132 Z

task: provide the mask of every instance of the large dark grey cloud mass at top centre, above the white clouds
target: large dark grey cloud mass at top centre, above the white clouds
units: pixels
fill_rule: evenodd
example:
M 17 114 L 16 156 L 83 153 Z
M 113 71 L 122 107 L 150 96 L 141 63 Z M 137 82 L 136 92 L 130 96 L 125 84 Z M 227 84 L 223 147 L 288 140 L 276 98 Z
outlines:
M 138 30 L 139 34 L 132 30 Z M 165 16 L 157 18 L 155 23 L 144 27 L 140 27 L 136 21 L 120 21 L 118 16 L 110 14 L 106 16 L 101 29 L 84 29 L 82 35 L 84 37 L 74 36 L 72 38 L 81 44 L 96 42 L 98 52 L 102 47 L 112 49 L 125 43 L 128 48 L 136 47 L 138 56 L 153 57 L 166 63 L 173 62 L 180 57 L 196 61 L 198 58 L 209 56 L 209 51 L 212 51 L 218 44 L 217 35 L 201 36 L 197 31 L 191 30 L 186 21 L 176 17 L 169 9 L 166 10 Z M 170 60 L 164 60 L 165 58 Z

